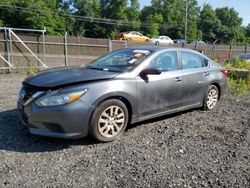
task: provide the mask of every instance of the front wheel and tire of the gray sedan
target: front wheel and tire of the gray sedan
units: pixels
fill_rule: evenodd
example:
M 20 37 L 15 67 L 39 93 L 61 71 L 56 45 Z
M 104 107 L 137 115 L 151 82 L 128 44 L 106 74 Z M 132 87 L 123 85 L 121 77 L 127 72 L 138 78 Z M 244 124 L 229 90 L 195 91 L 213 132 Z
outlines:
M 106 100 L 99 104 L 94 111 L 90 121 L 89 134 L 97 141 L 110 142 L 124 132 L 127 124 L 126 105 L 117 99 Z

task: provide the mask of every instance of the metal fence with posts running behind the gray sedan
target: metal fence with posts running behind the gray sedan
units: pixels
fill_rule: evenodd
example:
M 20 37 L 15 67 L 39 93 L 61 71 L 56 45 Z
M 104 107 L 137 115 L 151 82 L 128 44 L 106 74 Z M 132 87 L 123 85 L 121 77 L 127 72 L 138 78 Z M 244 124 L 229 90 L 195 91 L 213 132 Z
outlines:
M 6 32 L 7 31 L 7 32 Z M 0 69 L 37 66 L 52 68 L 86 64 L 108 52 L 131 46 L 154 45 L 149 42 L 120 41 L 72 36 L 48 36 L 44 32 L 10 28 L 0 30 Z M 41 30 L 43 31 L 43 30 Z M 198 50 L 219 62 L 232 60 L 241 53 L 249 53 L 248 46 L 178 45 Z

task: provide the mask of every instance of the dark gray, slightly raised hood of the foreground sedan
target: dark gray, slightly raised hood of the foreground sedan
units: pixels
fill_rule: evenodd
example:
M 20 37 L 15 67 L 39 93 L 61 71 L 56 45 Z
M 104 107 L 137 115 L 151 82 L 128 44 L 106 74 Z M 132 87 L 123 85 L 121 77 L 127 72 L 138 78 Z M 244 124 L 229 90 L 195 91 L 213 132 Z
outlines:
M 57 89 L 80 83 L 107 80 L 116 77 L 118 72 L 108 72 L 82 67 L 50 69 L 28 77 L 23 85 L 46 89 Z

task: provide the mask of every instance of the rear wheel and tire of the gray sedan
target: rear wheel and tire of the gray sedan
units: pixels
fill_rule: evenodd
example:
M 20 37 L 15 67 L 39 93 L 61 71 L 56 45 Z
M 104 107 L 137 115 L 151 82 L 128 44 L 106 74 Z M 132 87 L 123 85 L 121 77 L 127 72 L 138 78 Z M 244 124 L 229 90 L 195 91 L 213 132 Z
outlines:
M 209 111 L 212 110 L 219 100 L 219 90 L 217 86 L 210 85 L 207 89 L 204 101 L 203 101 L 203 110 Z

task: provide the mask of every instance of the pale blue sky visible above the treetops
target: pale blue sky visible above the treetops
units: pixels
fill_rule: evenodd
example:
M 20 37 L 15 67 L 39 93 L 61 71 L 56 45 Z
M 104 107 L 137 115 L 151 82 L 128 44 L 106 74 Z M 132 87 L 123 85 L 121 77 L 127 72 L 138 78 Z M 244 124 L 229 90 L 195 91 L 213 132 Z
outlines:
M 200 7 L 204 3 L 210 4 L 214 9 L 228 6 L 234 8 L 239 16 L 243 19 L 243 26 L 250 23 L 250 0 L 197 0 Z M 139 0 L 141 8 L 145 5 L 150 5 L 151 0 Z

